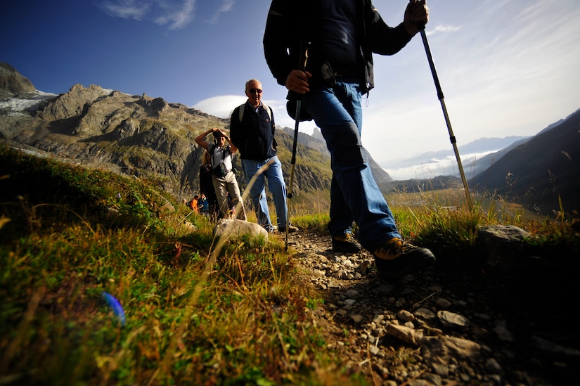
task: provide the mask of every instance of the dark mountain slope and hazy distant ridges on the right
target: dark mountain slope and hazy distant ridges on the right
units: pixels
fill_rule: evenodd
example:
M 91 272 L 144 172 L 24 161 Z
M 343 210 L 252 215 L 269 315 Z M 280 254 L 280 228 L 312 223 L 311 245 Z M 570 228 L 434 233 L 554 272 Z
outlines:
M 489 151 L 494 148 L 501 150 Z M 459 153 L 472 193 L 520 202 L 541 214 L 558 212 L 560 205 L 565 212 L 580 210 L 580 110 L 535 136 L 480 139 L 461 146 Z M 470 157 L 483 153 L 487 154 L 477 159 Z M 391 169 L 429 164 L 445 157 L 455 167 L 453 173 L 447 173 L 453 178 L 435 174 L 429 183 L 421 179 L 395 181 L 395 188 L 413 192 L 422 186 L 462 186 L 452 150 L 401 160 Z

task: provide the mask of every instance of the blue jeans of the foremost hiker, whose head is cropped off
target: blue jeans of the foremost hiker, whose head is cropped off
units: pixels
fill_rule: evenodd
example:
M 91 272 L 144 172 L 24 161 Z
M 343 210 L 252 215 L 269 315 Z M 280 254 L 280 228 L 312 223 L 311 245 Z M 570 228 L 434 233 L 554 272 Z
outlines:
M 320 127 L 330 151 L 330 236 L 359 226 L 359 243 L 374 252 L 385 241 L 401 237 L 389 205 L 370 172 L 361 143 L 362 108 L 359 82 L 337 79 L 335 86 L 311 91 L 304 105 Z

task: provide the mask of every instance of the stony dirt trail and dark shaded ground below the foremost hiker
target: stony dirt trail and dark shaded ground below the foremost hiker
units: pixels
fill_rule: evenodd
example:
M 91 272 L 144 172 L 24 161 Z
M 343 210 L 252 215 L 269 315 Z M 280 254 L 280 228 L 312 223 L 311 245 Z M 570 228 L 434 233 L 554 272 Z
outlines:
M 370 384 L 579 382 L 577 270 L 536 257 L 499 268 L 438 257 L 430 269 L 389 282 L 365 250 L 334 253 L 330 237 L 309 231 L 289 242 L 323 295 L 314 313 L 330 347 Z

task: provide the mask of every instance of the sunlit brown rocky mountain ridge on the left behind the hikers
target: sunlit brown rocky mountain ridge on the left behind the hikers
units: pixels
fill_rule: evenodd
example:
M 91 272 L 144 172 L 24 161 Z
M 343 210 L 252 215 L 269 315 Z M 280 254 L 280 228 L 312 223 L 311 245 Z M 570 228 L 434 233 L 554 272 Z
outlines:
M 228 128 L 229 120 L 146 94 L 75 84 L 67 93 L 40 96 L 32 82 L 6 63 L 0 77 L 4 86 L 0 139 L 11 146 L 153 179 L 176 198 L 198 191 L 203 149 L 193 139 L 209 127 Z M 277 136 L 288 178 L 292 136 L 284 131 Z M 297 156 L 301 162 L 296 165 L 295 194 L 330 188 L 328 156 L 306 146 L 299 146 Z M 243 178 L 238 180 L 243 184 Z

